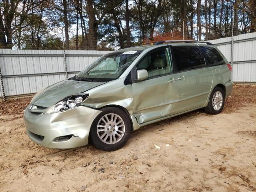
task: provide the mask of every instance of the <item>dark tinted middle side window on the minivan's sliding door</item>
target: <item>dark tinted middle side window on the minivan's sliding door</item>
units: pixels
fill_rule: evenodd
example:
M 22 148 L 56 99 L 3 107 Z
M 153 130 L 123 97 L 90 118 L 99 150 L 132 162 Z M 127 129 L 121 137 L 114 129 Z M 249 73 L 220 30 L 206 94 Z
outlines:
M 196 68 L 205 67 L 204 57 L 198 47 L 173 47 L 174 57 L 176 60 L 177 71 L 186 71 Z

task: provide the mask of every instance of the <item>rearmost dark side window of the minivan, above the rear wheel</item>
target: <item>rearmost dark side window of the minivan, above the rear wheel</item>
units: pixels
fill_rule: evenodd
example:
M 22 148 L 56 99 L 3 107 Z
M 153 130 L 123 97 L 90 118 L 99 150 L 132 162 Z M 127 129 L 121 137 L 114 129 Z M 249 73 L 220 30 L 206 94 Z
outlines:
M 204 52 L 206 59 L 208 60 L 209 66 L 223 65 L 226 64 L 220 53 L 213 47 L 200 47 Z

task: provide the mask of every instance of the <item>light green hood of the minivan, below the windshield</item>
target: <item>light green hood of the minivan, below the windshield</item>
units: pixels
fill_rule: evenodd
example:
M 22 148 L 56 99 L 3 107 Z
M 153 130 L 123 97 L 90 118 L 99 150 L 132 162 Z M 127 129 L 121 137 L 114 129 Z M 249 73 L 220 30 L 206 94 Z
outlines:
M 104 83 L 106 82 L 63 80 L 35 95 L 32 99 L 32 104 L 49 108 L 72 94 L 85 92 Z

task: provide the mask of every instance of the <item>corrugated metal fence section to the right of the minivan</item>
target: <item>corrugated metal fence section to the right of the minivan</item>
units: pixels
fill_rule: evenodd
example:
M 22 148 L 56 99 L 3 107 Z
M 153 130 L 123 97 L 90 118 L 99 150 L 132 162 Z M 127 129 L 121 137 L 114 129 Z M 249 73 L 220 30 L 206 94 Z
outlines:
M 210 40 L 231 61 L 231 37 Z M 256 32 L 234 36 L 232 80 L 256 82 Z

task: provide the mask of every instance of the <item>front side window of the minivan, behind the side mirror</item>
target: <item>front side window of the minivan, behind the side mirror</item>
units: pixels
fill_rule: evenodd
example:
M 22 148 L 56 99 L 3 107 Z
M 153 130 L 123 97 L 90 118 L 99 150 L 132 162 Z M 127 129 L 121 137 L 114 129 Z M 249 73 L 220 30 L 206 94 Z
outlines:
M 172 73 L 169 48 L 163 48 L 146 55 L 136 66 L 137 70 L 148 71 L 148 78 Z

